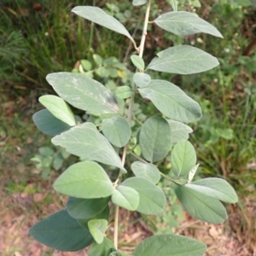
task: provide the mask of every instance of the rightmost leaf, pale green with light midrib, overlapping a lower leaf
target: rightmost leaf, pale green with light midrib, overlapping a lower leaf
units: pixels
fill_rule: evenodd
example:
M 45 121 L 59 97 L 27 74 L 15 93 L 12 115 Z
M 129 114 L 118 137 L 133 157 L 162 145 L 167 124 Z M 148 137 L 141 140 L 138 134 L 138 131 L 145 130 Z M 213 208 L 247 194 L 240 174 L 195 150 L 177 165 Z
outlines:
M 216 198 L 220 201 L 236 203 L 238 201 L 236 191 L 224 179 L 207 177 L 193 183 L 186 184 L 189 189 L 194 189 L 203 195 Z

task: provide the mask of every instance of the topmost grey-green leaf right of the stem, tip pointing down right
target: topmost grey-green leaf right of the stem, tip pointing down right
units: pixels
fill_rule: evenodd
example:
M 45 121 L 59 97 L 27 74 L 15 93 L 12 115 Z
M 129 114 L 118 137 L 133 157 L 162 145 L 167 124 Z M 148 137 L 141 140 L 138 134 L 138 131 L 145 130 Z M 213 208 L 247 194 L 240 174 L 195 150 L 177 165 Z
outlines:
M 154 20 L 154 23 L 167 32 L 172 32 L 177 36 L 184 37 L 204 32 L 218 38 L 223 38 L 215 26 L 212 26 L 206 20 L 202 20 L 195 14 L 184 11 L 165 13 Z

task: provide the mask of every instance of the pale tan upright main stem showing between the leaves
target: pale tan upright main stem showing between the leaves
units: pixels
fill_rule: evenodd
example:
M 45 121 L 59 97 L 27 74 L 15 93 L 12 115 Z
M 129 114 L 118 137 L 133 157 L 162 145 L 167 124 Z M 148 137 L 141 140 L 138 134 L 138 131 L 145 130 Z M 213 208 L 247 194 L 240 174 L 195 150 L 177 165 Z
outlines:
M 143 26 L 143 35 L 142 35 L 141 44 L 139 47 L 139 56 L 140 57 L 143 57 L 144 45 L 145 45 L 146 36 L 147 36 L 150 2 L 151 2 L 151 0 L 148 0 L 148 2 L 147 2 L 147 9 L 146 9 L 146 15 L 145 15 L 144 26 Z M 133 91 L 136 90 L 136 85 L 134 83 L 132 84 L 132 90 Z M 135 93 L 133 94 L 133 96 L 131 96 L 131 99 L 129 102 L 129 108 L 128 108 L 128 113 L 127 113 L 127 119 L 128 119 L 129 123 L 131 123 L 131 118 L 132 118 L 132 107 L 133 107 L 133 103 L 134 103 L 134 96 L 135 96 Z M 123 166 L 125 166 L 127 149 L 128 149 L 128 143 L 125 145 L 123 156 L 122 156 L 122 165 Z M 119 177 L 117 178 L 115 185 L 120 183 L 121 179 L 122 179 L 122 172 L 119 172 Z M 118 242 L 119 242 L 119 206 L 116 206 L 115 212 L 114 212 L 113 244 L 117 250 L 118 250 Z

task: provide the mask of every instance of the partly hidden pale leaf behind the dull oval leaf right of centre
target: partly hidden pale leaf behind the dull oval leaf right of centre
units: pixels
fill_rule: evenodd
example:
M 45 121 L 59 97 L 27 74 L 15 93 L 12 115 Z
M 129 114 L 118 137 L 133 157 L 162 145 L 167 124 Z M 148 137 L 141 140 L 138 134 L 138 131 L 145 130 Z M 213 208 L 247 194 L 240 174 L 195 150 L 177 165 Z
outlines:
M 193 132 L 193 130 L 189 127 L 189 125 L 185 125 L 181 122 L 177 122 L 174 120 L 166 120 L 171 127 L 172 131 L 172 144 L 176 144 L 180 140 L 188 140 L 189 133 Z

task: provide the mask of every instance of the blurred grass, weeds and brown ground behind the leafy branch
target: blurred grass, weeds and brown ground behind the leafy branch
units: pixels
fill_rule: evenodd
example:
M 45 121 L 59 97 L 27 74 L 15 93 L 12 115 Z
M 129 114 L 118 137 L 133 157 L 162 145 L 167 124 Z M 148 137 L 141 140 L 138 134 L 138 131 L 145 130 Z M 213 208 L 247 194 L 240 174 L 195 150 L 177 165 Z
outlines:
M 151 20 L 171 9 L 168 2 L 171 3 L 155 1 Z M 208 239 L 205 242 L 210 245 L 209 255 L 254 255 L 256 3 L 254 0 L 183 0 L 179 3 L 181 9 L 195 11 L 217 26 L 224 39 L 201 34 L 177 39 L 151 26 L 145 56 L 152 58 L 155 52 L 175 45 L 179 40 L 179 43 L 196 45 L 218 57 L 220 67 L 207 73 L 189 77 L 165 75 L 163 78 L 161 73 L 157 76 L 173 81 L 197 97 L 195 100 L 201 104 L 203 119 L 192 127 L 194 133 L 190 140 L 197 148 L 201 164 L 199 175 L 228 179 L 236 188 L 240 202 L 230 206 L 229 221 L 216 230 L 184 216 L 174 195 L 169 196 L 171 210 L 166 216 L 157 217 L 160 225 L 156 226 L 153 218 L 126 216 L 123 212 L 124 226 L 128 219 L 131 222 L 124 228 L 123 246 L 128 241 L 136 243 L 140 236 L 148 236 L 150 232 L 175 230 L 180 234 L 189 232 L 190 236 L 204 241 Z M 3 0 L 0 3 L 0 219 L 3 227 L 0 253 L 3 255 L 66 255 L 41 247 L 26 235 L 26 230 L 36 223 L 37 218 L 55 212 L 65 201 L 53 193 L 51 184 L 65 169 L 65 163 L 75 160 L 62 154 L 63 162 L 55 168 L 52 160 L 60 153 L 59 149 L 51 146 L 49 138 L 32 124 L 32 114 L 42 108 L 38 96 L 53 93 L 45 81 L 46 74 L 78 71 L 80 60 L 86 59 L 92 65 L 89 71 L 93 71 L 96 79 L 111 86 L 111 81 L 115 85 L 122 84 L 125 74 L 119 73 L 116 78 L 109 79 L 97 73 L 99 57 L 104 60 L 114 56 L 125 62 L 125 67 L 130 65 L 126 61 L 132 49 L 125 37 L 71 14 L 74 6 L 85 4 L 108 10 L 125 23 L 131 34 L 137 32 L 140 35 L 142 24 L 137 20 L 142 18 L 143 9 L 133 9 L 129 1 L 41 0 L 33 3 Z M 154 108 L 148 102 L 148 107 L 142 111 L 148 116 L 154 113 Z M 48 148 L 45 153 L 42 147 L 53 151 L 49 154 Z M 30 159 L 37 155 L 43 155 L 48 161 L 35 166 Z M 44 172 L 45 166 L 47 172 Z M 178 223 L 181 223 L 179 228 Z M 186 227 L 189 229 L 184 230 Z M 22 239 L 24 236 L 26 239 Z M 227 247 L 227 251 L 218 251 L 221 247 Z

